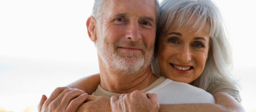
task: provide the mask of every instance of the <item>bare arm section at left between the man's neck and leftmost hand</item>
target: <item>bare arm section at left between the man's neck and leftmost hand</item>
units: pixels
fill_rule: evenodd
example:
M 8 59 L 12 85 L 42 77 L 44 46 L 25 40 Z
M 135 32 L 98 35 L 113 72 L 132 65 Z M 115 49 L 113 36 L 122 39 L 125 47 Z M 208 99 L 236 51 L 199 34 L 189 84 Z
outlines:
M 92 94 L 98 87 L 100 83 L 99 74 L 94 74 L 92 76 L 81 78 L 69 85 L 69 88 L 77 88 L 80 90 L 84 90 L 88 94 Z

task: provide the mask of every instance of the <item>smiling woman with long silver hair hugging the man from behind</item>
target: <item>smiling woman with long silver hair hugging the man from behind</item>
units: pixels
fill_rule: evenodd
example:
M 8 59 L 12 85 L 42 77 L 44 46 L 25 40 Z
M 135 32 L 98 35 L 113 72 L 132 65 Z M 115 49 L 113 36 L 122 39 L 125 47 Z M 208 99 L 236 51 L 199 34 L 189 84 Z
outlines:
M 163 0 L 160 8 L 156 53 L 152 62 L 154 73 L 202 88 L 216 100 L 216 104 L 160 105 L 160 111 L 244 111 L 239 103 L 238 85 L 231 77 L 230 48 L 216 5 L 211 0 Z M 69 87 L 90 94 L 99 82 L 99 75 L 94 75 Z M 137 100 L 141 99 L 145 98 Z M 111 105 L 114 102 L 111 101 Z M 118 105 L 112 109 L 119 107 L 133 108 Z

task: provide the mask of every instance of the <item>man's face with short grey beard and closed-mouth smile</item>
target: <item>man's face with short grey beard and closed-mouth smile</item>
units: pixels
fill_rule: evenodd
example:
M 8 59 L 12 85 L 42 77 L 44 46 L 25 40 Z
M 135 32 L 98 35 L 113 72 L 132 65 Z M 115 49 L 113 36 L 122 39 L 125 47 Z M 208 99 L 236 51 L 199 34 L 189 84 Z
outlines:
M 106 0 L 96 25 L 96 46 L 112 70 L 134 74 L 150 65 L 156 37 L 154 0 Z

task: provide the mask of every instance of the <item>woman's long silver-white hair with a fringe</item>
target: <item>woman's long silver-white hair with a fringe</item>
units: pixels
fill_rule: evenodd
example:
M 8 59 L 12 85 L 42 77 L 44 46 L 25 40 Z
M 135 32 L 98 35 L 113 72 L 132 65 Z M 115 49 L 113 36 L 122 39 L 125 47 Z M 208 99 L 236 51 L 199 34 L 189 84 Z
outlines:
M 232 74 L 232 54 L 228 43 L 226 28 L 222 15 L 217 6 L 211 0 L 163 0 L 160 3 L 160 19 L 156 37 L 156 55 L 152 62 L 155 74 L 164 76 L 158 66 L 157 44 L 161 32 L 168 28 L 187 28 L 187 30 L 200 31 L 205 24 L 209 24 L 210 48 L 205 68 L 193 86 L 202 88 L 214 94 L 226 92 L 231 96 L 237 96 L 240 101 L 238 84 Z M 192 27 L 191 27 L 192 26 Z M 230 91 L 230 92 L 228 92 Z

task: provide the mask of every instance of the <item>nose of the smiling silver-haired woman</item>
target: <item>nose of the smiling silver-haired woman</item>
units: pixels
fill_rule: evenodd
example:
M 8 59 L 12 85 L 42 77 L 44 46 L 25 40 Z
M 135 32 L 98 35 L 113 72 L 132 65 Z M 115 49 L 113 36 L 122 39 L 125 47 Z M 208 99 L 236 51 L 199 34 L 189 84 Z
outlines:
M 180 60 L 181 63 L 187 63 L 191 60 L 191 53 L 189 46 L 182 46 L 178 54 L 176 55 L 177 59 Z

